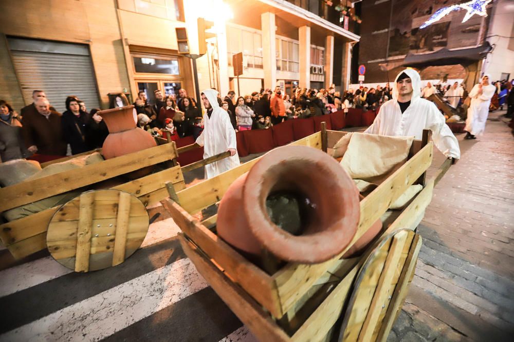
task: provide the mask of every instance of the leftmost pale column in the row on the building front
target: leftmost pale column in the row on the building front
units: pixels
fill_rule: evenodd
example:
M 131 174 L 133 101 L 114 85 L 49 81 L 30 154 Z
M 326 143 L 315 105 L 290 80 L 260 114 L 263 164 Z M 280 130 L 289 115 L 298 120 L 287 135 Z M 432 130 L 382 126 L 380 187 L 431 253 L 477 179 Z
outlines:
M 274 89 L 277 84 L 277 54 L 275 45 L 275 14 L 261 14 L 262 66 L 264 88 Z

